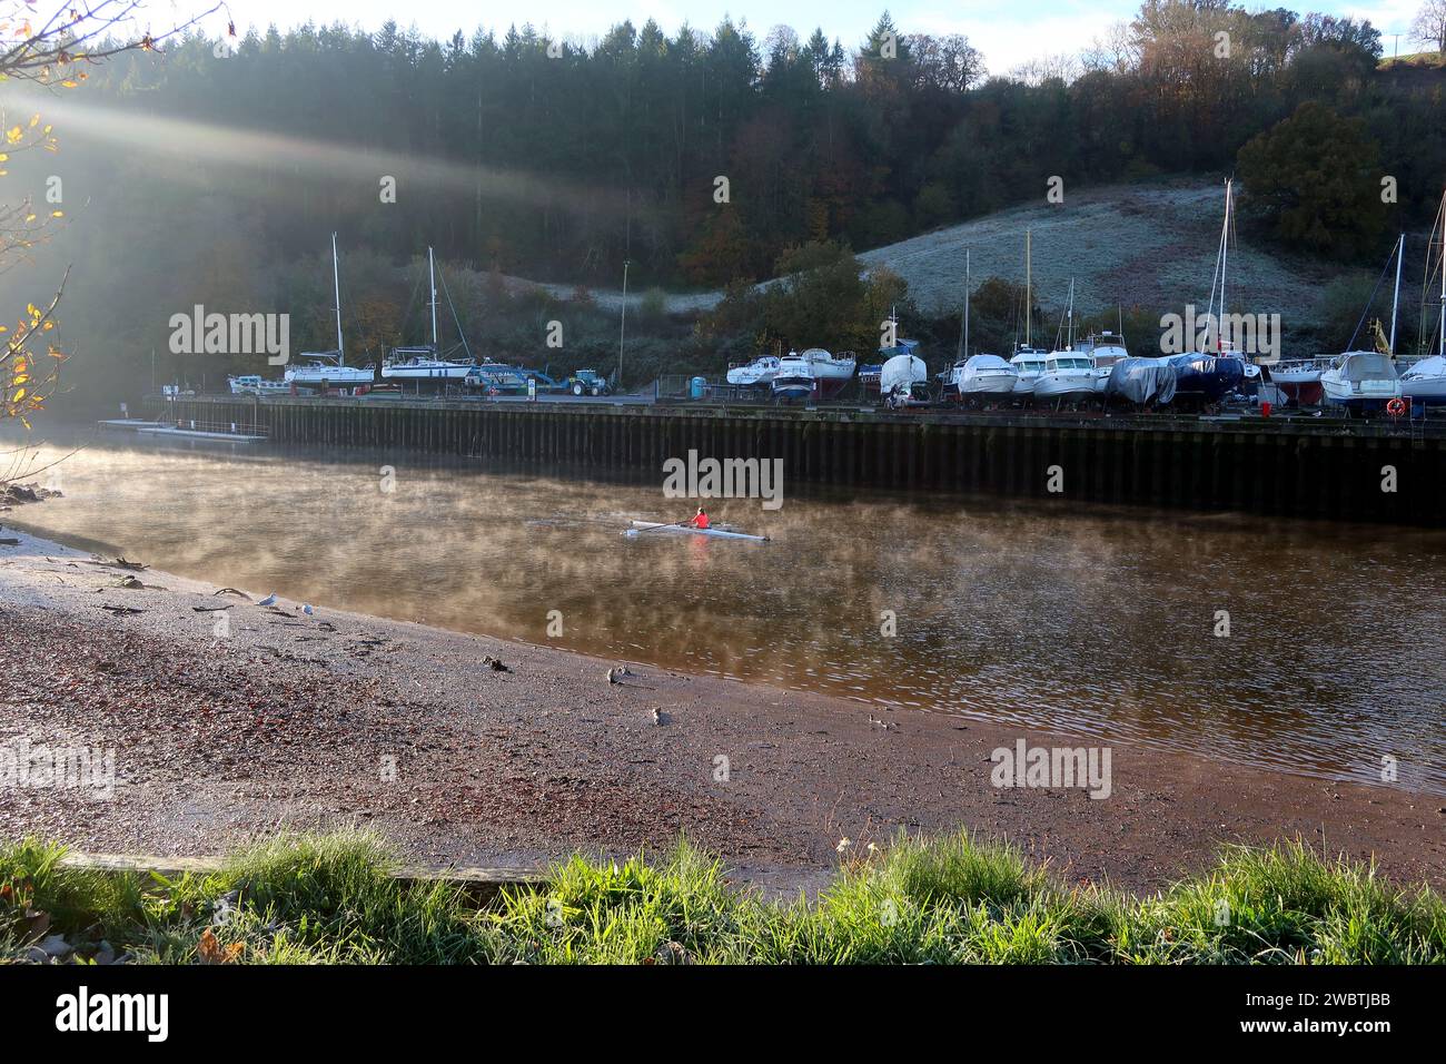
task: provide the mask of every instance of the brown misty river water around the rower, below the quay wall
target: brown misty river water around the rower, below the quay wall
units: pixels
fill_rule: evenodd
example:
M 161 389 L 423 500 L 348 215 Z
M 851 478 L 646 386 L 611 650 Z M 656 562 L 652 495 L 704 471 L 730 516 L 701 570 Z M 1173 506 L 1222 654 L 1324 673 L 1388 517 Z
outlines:
M 1446 790 L 1440 533 L 957 497 L 710 507 L 774 540 L 755 544 L 623 537 L 687 515 L 661 475 L 126 442 L 58 475 L 67 498 L 10 517 L 262 594 L 1329 776 L 1378 780 L 1391 756 L 1403 786 Z

